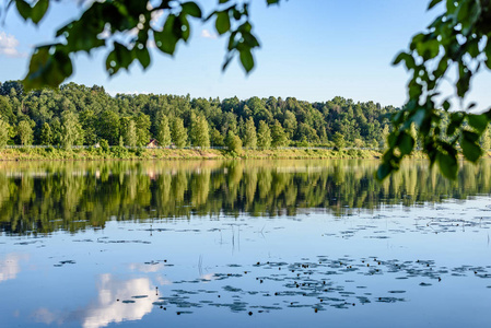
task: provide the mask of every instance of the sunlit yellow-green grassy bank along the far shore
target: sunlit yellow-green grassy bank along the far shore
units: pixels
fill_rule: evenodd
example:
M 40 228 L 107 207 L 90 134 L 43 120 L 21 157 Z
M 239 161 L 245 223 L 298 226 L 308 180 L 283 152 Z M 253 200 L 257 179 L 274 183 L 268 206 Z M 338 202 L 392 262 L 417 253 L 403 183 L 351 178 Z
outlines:
M 138 149 L 114 147 L 110 150 L 25 148 L 0 150 L 0 161 L 92 161 L 92 160 L 220 160 L 220 159 L 376 159 L 378 151 L 327 149 L 243 150 L 241 153 L 207 149 Z

